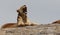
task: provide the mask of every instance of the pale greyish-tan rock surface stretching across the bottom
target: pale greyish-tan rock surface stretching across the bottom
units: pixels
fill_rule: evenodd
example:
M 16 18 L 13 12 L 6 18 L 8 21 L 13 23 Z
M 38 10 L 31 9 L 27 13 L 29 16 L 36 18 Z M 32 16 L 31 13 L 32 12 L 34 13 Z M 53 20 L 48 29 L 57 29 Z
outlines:
M 60 24 L 5 28 L 0 30 L 0 35 L 60 35 Z

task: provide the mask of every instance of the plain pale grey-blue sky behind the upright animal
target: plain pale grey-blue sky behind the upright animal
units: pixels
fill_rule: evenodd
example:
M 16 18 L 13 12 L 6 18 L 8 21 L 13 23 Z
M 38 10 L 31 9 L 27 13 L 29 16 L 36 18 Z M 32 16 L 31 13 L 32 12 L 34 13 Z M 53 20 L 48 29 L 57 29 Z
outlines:
M 60 0 L 0 0 L 0 25 L 17 22 L 16 10 L 27 5 L 32 22 L 48 24 L 60 19 Z

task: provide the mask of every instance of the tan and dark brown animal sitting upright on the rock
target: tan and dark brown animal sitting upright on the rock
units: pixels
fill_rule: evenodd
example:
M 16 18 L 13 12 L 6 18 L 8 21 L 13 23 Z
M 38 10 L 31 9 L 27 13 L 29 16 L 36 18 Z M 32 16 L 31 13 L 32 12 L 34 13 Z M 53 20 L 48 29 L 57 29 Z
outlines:
M 27 7 L 26 5 L 21 6 L 18 10 L 17 26 L 20 25 L 31 25 L 31 22 L 27 18 Z

